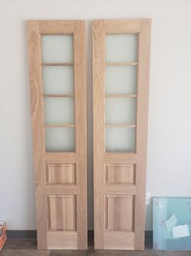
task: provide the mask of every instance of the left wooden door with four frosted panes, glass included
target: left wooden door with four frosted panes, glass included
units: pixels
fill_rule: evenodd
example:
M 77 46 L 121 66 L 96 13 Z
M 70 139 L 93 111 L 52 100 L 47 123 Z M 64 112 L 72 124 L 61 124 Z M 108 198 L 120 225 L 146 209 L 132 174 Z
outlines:
M 38 249 L 86 249 L 85 22 L 27 28 Z

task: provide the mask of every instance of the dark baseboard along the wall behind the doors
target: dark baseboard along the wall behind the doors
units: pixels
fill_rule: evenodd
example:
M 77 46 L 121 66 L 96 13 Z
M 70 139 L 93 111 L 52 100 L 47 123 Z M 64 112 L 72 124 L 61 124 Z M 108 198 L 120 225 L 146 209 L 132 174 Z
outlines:
M 89 239 L 93 239 L 93 230 L 88 231 Z M 7 230 L 7 238 L 9 239 L 37 239 L 36 230 Z M 153 232 L 145 231 L 145 241 L 153 240 Z

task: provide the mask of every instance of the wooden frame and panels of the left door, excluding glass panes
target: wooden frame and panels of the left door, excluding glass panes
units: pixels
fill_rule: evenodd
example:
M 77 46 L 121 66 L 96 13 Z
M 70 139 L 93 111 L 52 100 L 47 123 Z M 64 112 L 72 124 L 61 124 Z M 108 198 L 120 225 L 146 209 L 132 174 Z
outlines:
M 46 152 L 41 81 L 41 35 L 72 34 L 75 95 L 76 152 Z M 39 249 L 87 249 L 87 140 L 85 22 L 29 20 L 28 60 L 33 117 L 33 157 L 36 174 Z M 68 65 L 55 63 L 55 66 Z M 50 124 L 49 127 L 66 127 Z M 73 125 L 67 125 L 73 127 Z M 70 231 L 76 232 L 70 232 Z

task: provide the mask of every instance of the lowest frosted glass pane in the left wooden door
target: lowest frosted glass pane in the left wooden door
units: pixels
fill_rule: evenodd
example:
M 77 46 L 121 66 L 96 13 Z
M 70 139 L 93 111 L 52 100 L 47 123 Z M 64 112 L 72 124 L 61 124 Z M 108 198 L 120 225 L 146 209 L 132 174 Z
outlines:
M 46 128 L 46 152 L 74 152 L 75 128 Z

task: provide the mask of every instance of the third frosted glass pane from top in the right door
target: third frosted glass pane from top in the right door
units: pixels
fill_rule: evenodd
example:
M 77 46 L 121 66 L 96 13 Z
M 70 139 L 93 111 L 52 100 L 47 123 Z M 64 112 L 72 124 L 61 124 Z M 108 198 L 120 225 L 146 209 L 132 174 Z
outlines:
M 136 98 L 106 98 L 106 124 L 133 125 L 137 122 Z

